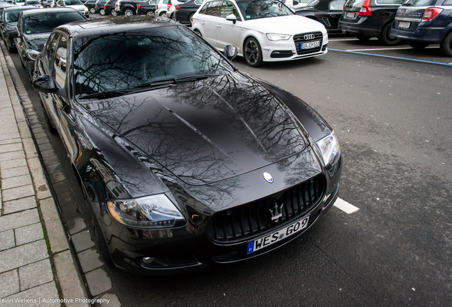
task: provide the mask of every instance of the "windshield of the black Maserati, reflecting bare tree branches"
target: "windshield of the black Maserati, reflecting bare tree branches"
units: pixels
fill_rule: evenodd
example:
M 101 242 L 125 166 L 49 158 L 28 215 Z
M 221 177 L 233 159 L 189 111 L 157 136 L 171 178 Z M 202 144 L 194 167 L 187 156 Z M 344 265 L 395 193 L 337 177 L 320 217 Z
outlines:
M 234 70 L 185 26 L 78 38 L 74 54 L 75 95 L 134 90 L 153 82 Z

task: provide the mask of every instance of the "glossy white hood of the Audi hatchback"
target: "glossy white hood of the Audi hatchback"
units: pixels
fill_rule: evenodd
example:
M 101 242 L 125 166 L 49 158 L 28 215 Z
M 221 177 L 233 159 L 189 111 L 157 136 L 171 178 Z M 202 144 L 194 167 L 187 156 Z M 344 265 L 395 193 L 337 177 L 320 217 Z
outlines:
M 290 35 L 313 31 L 326 32 L 325 27 L 318 21 L 298 15 L 252 19 L 242 22 L 242 28 L 249 28 L 262 33 Z

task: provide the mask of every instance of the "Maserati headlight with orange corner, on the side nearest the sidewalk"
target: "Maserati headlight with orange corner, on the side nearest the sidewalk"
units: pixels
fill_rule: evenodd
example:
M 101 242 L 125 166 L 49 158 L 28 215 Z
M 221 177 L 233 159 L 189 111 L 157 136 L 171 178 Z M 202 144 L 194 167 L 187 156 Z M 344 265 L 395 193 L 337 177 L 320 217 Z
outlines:
M 185 218 L 166 195 L 158 194 L 130 200 L 109 200 L 108 210 L 115 220 L 132 227 L 167 228 Z

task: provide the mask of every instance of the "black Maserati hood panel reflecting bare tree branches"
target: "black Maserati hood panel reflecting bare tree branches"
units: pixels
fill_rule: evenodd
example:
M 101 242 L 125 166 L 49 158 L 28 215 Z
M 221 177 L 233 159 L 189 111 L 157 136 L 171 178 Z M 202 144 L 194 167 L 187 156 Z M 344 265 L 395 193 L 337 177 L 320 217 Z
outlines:
M 189 185 L 232 178 L 306 146 L 289 109 L 241 72 L 79 103 Z

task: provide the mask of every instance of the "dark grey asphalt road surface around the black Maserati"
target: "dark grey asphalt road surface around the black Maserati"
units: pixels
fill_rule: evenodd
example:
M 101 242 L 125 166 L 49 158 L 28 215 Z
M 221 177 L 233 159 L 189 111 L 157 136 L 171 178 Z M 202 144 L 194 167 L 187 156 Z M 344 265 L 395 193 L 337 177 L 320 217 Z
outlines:
M 234 64 L 333 126 L 344 158 L 339 197 L 359 210 L 333 207 L 298 239 L 247 262 L 166 277 L 107 268 L 122 306 L 452 306 L 452 58 L 435 46 L 344 39 L 319 58 Z M 52 142 L 76 185 L 58 136 Z

